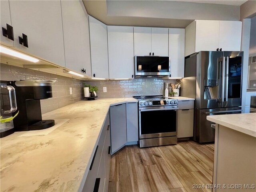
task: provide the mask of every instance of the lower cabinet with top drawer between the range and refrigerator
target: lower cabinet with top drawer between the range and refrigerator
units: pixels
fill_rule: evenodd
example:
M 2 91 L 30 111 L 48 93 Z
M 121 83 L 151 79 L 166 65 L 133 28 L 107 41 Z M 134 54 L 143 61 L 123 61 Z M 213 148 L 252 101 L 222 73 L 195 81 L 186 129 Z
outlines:
M 193 136 L 194 127 L 194 101 L 178 101 L 178 138 Z

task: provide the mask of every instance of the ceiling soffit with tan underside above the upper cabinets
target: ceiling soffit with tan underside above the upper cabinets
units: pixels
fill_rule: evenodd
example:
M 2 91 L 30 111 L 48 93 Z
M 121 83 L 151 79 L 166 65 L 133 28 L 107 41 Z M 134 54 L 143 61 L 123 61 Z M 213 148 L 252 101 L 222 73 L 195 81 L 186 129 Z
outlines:
M 239 20 L 245 0 L 83 0 L 107 25 L 185 28 L 195 19 Z

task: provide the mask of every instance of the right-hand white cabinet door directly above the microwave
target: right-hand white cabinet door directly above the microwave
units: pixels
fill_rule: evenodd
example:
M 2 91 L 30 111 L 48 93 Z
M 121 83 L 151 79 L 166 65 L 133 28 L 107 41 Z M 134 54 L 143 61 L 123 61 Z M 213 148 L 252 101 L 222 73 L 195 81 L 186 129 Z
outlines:
M 168 28 L 152 28 L 152 53 L 168 56 Z

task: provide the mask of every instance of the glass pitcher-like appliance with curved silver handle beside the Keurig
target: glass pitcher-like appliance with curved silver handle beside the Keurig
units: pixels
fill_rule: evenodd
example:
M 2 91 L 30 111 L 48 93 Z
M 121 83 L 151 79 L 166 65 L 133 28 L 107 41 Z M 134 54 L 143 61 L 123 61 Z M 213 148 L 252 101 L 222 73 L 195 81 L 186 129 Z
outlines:
M 13 120 L 11 119 L 12 112 L 17 110 L 15 89 L 7 84 L 7 81 L 0 82 L 0 116 L 2 116 L 3 119 L 9 119 L 6 122 L 0 123 L 0 138 L 14 133 Z

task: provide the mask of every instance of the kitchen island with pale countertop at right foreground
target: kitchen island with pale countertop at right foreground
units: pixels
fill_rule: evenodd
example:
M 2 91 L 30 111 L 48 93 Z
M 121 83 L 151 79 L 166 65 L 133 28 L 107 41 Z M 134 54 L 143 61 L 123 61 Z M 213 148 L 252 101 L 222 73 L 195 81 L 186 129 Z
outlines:
M 213 192 L 256 190 L 256 113 L 207 116 L 215 124 Z

